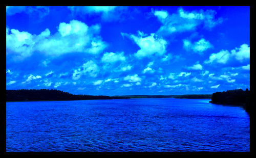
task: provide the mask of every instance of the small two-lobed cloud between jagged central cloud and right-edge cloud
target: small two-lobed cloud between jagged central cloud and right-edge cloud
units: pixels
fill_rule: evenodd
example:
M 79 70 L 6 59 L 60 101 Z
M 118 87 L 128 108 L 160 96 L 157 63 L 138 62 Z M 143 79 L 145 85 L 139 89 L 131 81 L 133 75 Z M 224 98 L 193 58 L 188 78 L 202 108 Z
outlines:
M 183 40 L 183 47 L 186 50 L 193 50 L 194 52 L 199 53 L 200 55 L 202 55 L 202 52 L 212 48 L 213 46 L 210 44 L 209 41 L 206 41 L 204 38 L 200 39 L 197 42 L 191 43 L 189 40 L 184 39 Z

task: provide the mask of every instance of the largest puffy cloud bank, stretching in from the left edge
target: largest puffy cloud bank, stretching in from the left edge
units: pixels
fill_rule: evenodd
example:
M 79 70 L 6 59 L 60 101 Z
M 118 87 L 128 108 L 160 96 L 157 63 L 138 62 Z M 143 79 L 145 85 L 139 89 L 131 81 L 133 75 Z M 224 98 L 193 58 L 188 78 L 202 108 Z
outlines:
M 99 25 L 88 27 L 86 23 L 78 20 L 71 20 L 69 23 L 61 22 L 58 32 L 53 35 L 49 29 L 39 35 L 7 29 L 7 56 L 14 55 L 15 60 L 23 60 L 36 51 L 51 57 L 71 52 L 99 54 L 108 46 L 97 35 L 99 29 Z

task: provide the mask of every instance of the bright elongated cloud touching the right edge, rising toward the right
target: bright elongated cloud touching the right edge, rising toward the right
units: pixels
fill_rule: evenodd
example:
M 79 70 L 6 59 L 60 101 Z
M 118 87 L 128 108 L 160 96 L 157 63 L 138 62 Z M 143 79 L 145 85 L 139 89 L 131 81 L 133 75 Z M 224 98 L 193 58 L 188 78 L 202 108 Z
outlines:
M 228 50 L 221 50 L 218 53 L 210 55 L 209 60 L 205 60 L 205 64 L 226 64 L 230 61 L 243 62 L 250 59 L 250 47 L 247 44 L 242 44 L 240 48 L 232 49 L 231 52 Z

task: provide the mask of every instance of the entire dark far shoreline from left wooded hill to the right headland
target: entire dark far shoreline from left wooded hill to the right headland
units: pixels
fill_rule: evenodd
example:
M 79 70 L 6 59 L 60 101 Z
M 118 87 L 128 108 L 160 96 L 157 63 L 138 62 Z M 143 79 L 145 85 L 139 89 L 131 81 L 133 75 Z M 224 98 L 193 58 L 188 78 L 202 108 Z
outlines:
M 75 95 L 55 89 L 21 89 L 6 90 L 6 101 L 57 101 L 57 100 L 93 100 L 93 99 L 129 99 L 129 98 L 211 98 L 211 94 L 189 95 Z

